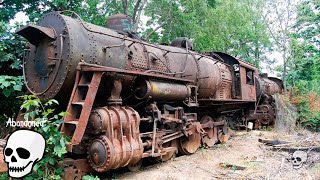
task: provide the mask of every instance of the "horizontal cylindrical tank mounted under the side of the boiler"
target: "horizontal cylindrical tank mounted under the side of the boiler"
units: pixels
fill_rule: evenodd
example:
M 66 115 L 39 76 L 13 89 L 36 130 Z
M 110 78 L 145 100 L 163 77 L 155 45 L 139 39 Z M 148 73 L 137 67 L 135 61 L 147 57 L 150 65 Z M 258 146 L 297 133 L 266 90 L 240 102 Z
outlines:
M 185 100 L 190 97 L 191 90 L 184 84 L 168 83 L 153 80 L 142 80 L 137 83 L 135 97 L 150 98 L 160 101 Z

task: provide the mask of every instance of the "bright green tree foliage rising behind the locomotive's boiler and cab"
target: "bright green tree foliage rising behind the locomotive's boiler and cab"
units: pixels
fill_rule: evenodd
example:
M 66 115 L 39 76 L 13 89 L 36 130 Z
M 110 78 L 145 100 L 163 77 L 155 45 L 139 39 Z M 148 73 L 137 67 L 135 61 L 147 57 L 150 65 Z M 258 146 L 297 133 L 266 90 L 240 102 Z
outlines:
M 265 52 L 271 47 L 263 5 L 262 0 L 155 0 L 147 4 L 145 14 L 151 19 L 143 34 L 163 44 L 189 37 L 197 51 L 223 51 L 259 66 L 267 62 Z

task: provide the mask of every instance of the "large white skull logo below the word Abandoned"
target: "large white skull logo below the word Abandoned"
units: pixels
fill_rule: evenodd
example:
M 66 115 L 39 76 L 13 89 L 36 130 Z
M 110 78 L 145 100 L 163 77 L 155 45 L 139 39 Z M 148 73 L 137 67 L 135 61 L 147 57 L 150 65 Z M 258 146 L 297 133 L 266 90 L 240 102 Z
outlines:
M 34 164 L 42 159 L 44 150 L 45 140 L 41 134 L 31 130 L 12 133 L 3 151 L 9 176 L 20 178 L 29 174 Z

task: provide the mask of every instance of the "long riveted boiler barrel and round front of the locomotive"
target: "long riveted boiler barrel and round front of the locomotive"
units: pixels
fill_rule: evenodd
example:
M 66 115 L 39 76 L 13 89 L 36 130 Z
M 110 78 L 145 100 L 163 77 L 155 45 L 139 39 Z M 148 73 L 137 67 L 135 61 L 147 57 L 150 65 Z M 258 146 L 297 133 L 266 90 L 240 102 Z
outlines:
M 30 91 L 42 99 L 50 99 L 57 95 L 59 97 L 62 91 L 64 96 L 71 94 L 76 65 L 80 61 L 193 81 L 194 85 L 200 84 L 201 97 L 212 97 L 214 91 L 219 88 L 219 82 L 216 81 L 219 78 L 212 74 L 217 72 L 215 68 L 220 69 L 215 67 L 217 60 L 189 49 L 148 44 L 58 12 L 46 14 L 38 26 L 52 27 L 57 35 L 63 35 L 52 42 L 46 38 L 40 39 L 39 45 L 31 46 L 26 54 L 26 83 Z M 48 56 L 45 55 L 46 52 L 49 53 Z M 208 63 L 213 69 L 201 69 L 200 66 L 206 67 Z M 38 73 L 32 73 L 34 70 Z M 209 79 L 207 75 L 210 76 Z M 124 84 L 132 83 L 129 82 L 129 78 L 123 79 L 128 81 Z M 221 88 L 223 87 L 225 85 L 221 85 Z M 221 92 L 226 90 L 222 89 Z M 230 95 L 225 97 L 229 98 Z

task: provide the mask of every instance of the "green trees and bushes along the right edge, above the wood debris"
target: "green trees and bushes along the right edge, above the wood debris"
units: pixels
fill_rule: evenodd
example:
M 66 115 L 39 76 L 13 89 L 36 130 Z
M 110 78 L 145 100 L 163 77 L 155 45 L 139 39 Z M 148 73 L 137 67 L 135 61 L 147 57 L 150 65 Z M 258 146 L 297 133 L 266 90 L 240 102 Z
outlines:
M 292 56 L 288 61 L 287 82 L 299 97 L 299 120 L 303 126 L 320 131 L 320 112 L 310 104 L 320 101 L 320 1 L 302 1 L 295 32 L 291 35 Z M 315 94 L 310 98 L 310 94 Z M 319 103 L 320 104 L 320 103 Z

